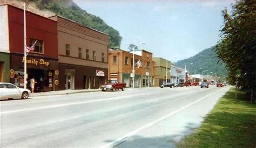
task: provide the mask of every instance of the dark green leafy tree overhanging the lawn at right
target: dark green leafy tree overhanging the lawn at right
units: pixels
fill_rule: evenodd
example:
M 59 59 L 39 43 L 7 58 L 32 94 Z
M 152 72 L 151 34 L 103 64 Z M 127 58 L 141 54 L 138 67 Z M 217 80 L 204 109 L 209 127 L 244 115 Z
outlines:
M 224 27 L 215 51 L 226 63 L 228 81 L 246 89 L 256 88 L 256 1 L 239 1 L 231 15 L 223 10 Z

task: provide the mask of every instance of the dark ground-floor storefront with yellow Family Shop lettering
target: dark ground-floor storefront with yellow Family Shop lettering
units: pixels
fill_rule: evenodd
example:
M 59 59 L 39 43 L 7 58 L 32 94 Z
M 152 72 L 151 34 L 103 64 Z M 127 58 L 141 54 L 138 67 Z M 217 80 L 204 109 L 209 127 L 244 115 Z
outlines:
M 20 54 L 10 55 L 10 82 L 18 87 L 24 87 L 24 57 Z M 58 61 L 44 57 L 29 56 L 26 59 L 27 88 L 30 89 L 30 79 L 35 79 L 35 91 L 58 90 Z

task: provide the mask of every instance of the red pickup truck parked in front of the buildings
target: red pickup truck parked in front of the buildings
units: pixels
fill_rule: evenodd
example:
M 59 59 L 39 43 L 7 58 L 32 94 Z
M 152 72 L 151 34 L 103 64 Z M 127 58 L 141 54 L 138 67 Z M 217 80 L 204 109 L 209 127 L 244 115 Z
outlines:
M 126 83 L 119 83 L 117 80 L 110 80 L 104 83 L 101 89 L 102 91 L 105 91 L 105 90 L 116 91 L 117 89 L 122 89 L 122 91 L 124 91 L 125 87 L 126 87 Z

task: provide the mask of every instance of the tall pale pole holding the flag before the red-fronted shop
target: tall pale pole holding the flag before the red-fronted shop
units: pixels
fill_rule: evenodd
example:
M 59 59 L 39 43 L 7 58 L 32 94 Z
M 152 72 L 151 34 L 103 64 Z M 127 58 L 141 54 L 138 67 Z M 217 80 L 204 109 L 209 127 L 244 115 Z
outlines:
M 26 2 L 24 1 L 24 88 L 26 89 Z

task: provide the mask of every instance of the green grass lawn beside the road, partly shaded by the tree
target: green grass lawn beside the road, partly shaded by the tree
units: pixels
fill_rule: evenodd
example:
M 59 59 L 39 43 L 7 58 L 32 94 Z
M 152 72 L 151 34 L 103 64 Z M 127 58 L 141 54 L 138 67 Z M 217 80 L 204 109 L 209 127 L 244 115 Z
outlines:
M 256 104 L 245 101 L 243 91 L 232 87 L 205 117 L 199 129 L 177 143 L 177 147 L 255 147 Z

